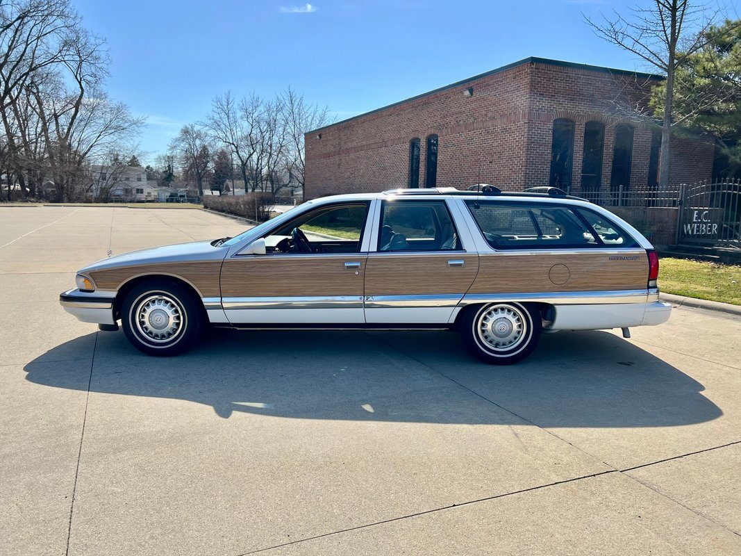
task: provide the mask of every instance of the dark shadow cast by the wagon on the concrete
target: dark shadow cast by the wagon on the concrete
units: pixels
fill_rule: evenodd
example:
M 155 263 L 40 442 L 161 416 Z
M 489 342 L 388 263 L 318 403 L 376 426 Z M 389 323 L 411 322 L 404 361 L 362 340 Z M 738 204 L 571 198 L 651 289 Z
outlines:
M 165 358 L 121 331 L 98 334 L 92 376 L 90 337 L 79 337 L 25 365 L 27 380 L 82 389 L 89 379 L 91 392 L 189 400 L 225 418 L 512 424 L 516 414 L 548 427 L 649 427 L 722 414 L 702 384 L 601 331 L 545 335 L 510 366 L 479 363 L 448 332 L 214 330 Z

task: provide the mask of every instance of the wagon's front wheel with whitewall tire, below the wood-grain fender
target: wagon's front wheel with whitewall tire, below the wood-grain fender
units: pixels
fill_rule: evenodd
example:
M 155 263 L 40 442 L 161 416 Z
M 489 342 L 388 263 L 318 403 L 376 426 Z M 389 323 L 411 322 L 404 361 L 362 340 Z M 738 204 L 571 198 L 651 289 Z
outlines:
M 142 282 L 124 298 L 124 334 L 147 355 L 180 354 L 199 338 L 202 317 L 196 303 L 193 294 L 176 282 Z

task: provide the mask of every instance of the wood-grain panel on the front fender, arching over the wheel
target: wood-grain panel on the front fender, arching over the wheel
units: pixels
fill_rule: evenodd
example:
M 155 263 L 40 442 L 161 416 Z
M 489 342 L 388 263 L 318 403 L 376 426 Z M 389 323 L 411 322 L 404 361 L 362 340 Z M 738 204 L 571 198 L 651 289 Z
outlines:
M 180 277 L 190 282 L 202 297 L 219 297 L 219 268 L 221 260 L 193 262 L 158 262 L 152 265 L 104 268 L 90 272 L 90 277 L 101 290 L 118 290 L 129 279 L 152 274 Z

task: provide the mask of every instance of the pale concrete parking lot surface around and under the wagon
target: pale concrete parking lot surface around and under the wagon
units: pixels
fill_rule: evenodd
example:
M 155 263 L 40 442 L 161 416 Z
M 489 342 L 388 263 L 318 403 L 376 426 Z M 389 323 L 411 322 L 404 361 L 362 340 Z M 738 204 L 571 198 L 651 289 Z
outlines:
M 0 208 L 1 552 L 741 553 L 741 317 L 494 367 L 448 332 L 210 331 L 153 358 L 59 306 L 109 250 L 242 228 Z

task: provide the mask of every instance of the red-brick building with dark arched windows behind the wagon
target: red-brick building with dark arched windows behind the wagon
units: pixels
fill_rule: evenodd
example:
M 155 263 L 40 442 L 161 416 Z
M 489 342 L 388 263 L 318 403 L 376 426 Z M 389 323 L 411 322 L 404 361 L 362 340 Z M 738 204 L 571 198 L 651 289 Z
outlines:
M 661 134 L 630 107 L 660 76 L 528 58 L 306 133 L 305 198 L 491 183 L 573 193 L 655 185 Z M 671 182 L 713 148 L 673 137 Z

